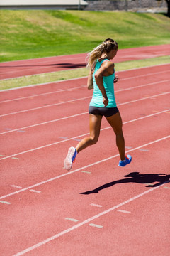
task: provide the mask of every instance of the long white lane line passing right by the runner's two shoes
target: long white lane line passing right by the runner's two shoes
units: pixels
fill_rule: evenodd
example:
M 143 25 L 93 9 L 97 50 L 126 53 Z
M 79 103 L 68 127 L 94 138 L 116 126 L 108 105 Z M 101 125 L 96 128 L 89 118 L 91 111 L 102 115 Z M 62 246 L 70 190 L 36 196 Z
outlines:
M 157 142 L 161 142 L 162 140 L 164 140 L 164 139 L 169 139 L 169 138 L 170 138 L 170 135 L 169 135 L 169 136 L 166 136 L 166 137 L 163 137 L 163 138 L 160 138 L 160 139 L 157 139 L 157 140 L 155 140 L 155 141 L 153 141 L 153 142 L 149 142 L 149 143 L 147 143 L 147 144 L 143 144 L 143 145 L 141 145 L 141 146 L 137 146 L 137 147 L 134 148 L 134 149 L 130 149 L 130 150 L 126 151 L 126 153 L 135 151 L 135 150 L 137 150 L 137 149 L 141 149 L 141 148 L 143 148 L 143 147 L 145 147 L 145 146 L 149 146 L 149 145 L 152 145 L 152 144 L 157 143 Z M 21 193 L 21 192 L 23 192 L 23 191 L 27 191 L 28 189 L 35 188 L 35 187 L 37 187 L 37 186 L 43 185 L 43 184 L 45 184 L 45 183 L 47 183 L 47 182 L 50 182 L 50 181 L 55 181 L 57 178 L 62 178 L 62 177 L 64 177 L 64 176 L 67 176 L 67 175 L 70 175 L 70 174 L 74 174 L 74 173 L 77 172 L 77 171 L 81 171 L 82 169 L 89 168 L 89 167 L 94 166 L 94 165 L 96 165 L 96 164 L 101 164 L 101 163 L 103 163 L 104 161 L 111 160 L 111 159 L 113 159 L 113 158 L 115 158 L 115 157 L 117 157 L 117 156 L 119 156 L 119 154 L 116 154 L 116 155 L 114 155 L 114 156 L 110 156 L 110 157 L 108 157 L 108 158 L 106 158 L 106 159 L 102 159 L 102 160 L 96 161 L 96 162 L 94 162 L 94 163 L 92 163 L 92 164 L 88 164 L 87 166 L 83 166 L 83 167 L 81 167 L 81 168 L 79 168 L 79 169 L 76 169 L 76 170 L 74 170 L 74 171 L 69 171 L 69 172 L 67 172 L 67 173 L 65 173 L 65 174 L 61 174 L 60 176 L 56 176 L 56 177 L 54 177 L 54 178 L 50 178 L 50 179 L 48 179 L 48 180 L 46 180 L 46 181 L 41 181 L 40 183 L 36 183 L 36 184 L 34 184 L 34 185 L 32 185 L 32 186 L 28 186 L 28 187 L 26 187 L 26 188 L 22 188 L 22 189 L 20 189 L 20 190 L 18 190 L 18 191 L 15 191 L 15 192 L 12 192 L 12 193 L 8 193 L 7 195 L 1 196 L 0 199 L 6 198 L 6 197 L 8 197 L 8 196 L 13 196 L 13 195 L 15 195 L 15 194 L 17 194 L 17 193 Z

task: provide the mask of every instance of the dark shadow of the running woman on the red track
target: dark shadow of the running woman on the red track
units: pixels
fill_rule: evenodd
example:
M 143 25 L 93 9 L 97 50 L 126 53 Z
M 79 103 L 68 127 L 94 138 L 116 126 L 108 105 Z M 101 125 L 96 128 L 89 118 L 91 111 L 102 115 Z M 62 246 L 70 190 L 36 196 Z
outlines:
M 123 178 L 118 181 L 112 181 L 110 183 L 106 183 L 102 186 L 99 186 L 98 188 L 95 188 L 92 191 L 86 191 L 86 192 L 82 192 L 80 194 L 89 195 L 91 193 L 98 193 L 98 191 L 101 191 L 102 189 L 109 188 L 111 186 L 114 186 L 115 184 L 120 184 L 120 183 L 147 184 L 147 183 L 157 182 L 154 185 L 149 184 L 146 186 L 146 187 L 156 187 L 156 186 L 160 186 L 164 183 L 170 182 L 170 175 L 167 175 L 167 174 L 140 174 L 139 172 L 132 172 L 128 175 L 125 175 L 124 177 L 128 177 L 128 178 Z

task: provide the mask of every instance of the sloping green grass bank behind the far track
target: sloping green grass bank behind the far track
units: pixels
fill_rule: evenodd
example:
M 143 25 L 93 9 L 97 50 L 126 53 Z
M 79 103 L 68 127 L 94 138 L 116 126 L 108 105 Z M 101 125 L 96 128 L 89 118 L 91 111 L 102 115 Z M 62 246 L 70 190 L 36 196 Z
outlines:
M 86 53 L 105 38 L 119 48 L 170 43 L 164 14 L 0 10 L 0 61 Z

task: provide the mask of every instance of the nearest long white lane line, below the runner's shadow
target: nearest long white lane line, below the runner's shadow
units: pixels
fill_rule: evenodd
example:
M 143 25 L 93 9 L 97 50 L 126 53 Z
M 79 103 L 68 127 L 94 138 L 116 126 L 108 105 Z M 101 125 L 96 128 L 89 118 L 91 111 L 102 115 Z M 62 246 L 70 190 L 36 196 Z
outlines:
M 101 216 L 103 216 L 103 215 L 106 215 L 107 213 L 111 213 L 111 211 L 113 211 L 113 210 L 119 208 L 120 206 L 125 206 L 125 204 L 130 203 L 130 202 L 132 202 L 132 201 L 135 201 L 137 198 L 140 198 L 140 197 L 142 197 L 142 196 L 145 196 L 145 195 L 147 195 L 147 193 L 150 193 L 150 192 L 152 192 L 152 191 L 158 189 L 158 188 L 161 187 L 161 186 L 163 186 L 163 184 L 160 185 L 160 186 L 154 187 L 154 188 L 150 188 L 150 189 L 148 189 L 147 191 L 138 194 L 137 196 L 134 196 L 134 197 L 132 197 L 132 198 L 126 200 L 126 201 L 123 201 L 122 203 L 119 203 L 119 204 L 116 205 L 116 206 L 113 206 L 113 207 L 111 207 L 111 208 L 108 208 L 107 210 L 104 210 L 103 212 L 98 213 L 97 215 L 94 215 L 94 216 L 92 216 L 91 218 L 88 218 L 88 219 L 82 221 L 81 223 L 78 223 L 77 225 L 72 226 L 71 228 L 68 228 L 67 230 L 63 230 L 62 232 L 57 233 L 56 235 L 52 235 L 50 238 L 47 238 L 47 239 L 45 239 L 45 240 L 43 240 L 43 241 L 41 241 L 41 242 L 38 242 L 37 244 L 35 244 L 35 245 L 33 245 L 33 246 L 30 246 L 30 247 L 26 248 L 25 250 L 22 250 L 21 252 L 16 253 L 16 254 L 13 255 L 13 256 L 21 256 L 21 255 L 26 254 L 27 252 L 30 252 L 30 251 L 32 251 L 32 250 L 35 250 L 35 249 L 37 249 L 38 247 L 47 244 L 47 242 L 51 242 L 52 240 L 55 240 L 55 239 L 57 239 L 57 238 L 60 238 L 62 235 L 65 235 L 65 234 L 71 232 L 72 230 L 76 230 L 77 228 L 81 227 L 82 225 L 85 225 L 85 224 L 87 224 L 87 223 L 90 223 L 92 220 L 96 220 L 97 218 L 99 218 L 99 217 L 101 217 Z

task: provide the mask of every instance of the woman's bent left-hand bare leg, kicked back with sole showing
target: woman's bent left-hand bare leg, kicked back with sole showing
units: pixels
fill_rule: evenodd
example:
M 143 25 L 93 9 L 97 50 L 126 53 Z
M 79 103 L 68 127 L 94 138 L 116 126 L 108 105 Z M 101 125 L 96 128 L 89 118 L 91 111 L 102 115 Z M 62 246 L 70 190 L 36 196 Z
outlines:
M 89 114 L 90 137 L 82 139 L 81 142 L 77 144 L 77 153 L 83 149 L 86 149 L 87 146 L 96 144 L 101 130 L 101 119 L 102 116 L 99 114 Z

